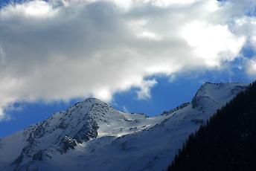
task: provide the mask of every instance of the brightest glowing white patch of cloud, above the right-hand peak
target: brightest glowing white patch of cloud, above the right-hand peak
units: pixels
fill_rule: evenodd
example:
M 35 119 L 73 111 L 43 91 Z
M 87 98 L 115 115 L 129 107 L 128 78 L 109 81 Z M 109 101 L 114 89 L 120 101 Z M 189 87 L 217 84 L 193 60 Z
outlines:
M 183 36 L 194 47 L 196 57 L 203 59 L 209 67 L 219 66 L 223 60 L 234 59 L 245 42 L 245 37 L 232 34 L 228 25 L 199 21 L 185 25 Z

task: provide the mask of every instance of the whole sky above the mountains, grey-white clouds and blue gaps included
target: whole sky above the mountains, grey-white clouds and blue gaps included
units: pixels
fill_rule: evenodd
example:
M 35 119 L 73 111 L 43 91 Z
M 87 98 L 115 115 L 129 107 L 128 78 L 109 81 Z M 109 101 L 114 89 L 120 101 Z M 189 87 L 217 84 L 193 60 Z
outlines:
M 97 97 L 159 114 L 256 77 L 255 0 L 0 0 L 0 136 Z

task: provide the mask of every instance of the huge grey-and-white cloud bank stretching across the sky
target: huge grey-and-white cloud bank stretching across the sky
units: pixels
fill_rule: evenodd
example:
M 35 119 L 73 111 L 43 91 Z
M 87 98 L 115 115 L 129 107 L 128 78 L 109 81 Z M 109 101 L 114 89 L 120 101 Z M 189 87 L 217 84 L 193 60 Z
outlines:
M 214 0 L 10 4 L 0 10 L 0 115 L 14 102 L 88 96 L 111 100 L 115 92 L 132 87 L 141 88 L 138 98 L 149 98 L 156 81 L 145 77 L 221 67 L 237 57 L 244 42 L 255 39 L 246 32 L 252 28 L 245 19 L 251 4 Z M 241 19 L 246 22 L 239 25 Z

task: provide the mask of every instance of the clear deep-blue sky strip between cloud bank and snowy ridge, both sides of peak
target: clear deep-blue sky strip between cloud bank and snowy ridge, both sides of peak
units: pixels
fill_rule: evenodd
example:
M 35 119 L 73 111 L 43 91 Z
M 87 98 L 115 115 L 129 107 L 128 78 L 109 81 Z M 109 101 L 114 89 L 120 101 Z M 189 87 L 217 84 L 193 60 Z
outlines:
M 252 83 L 253 79 L 247 77 L 243 71 L 234 71 L 234 75 L 227 74 L 227 71 L 218 72 L 204 72 L 196 74 L 186 74 L 178 76 L 173 83 L 167 77 L 156 77 L 158 85 L 151 90 L 152 97 L 150 100 L 138 100 L 136 98 L 135 89 L 115 94 L 112 106 L 115 109 L 124 111 L 126 108 L 128 112 L 141 112 L 149 116 L 161 114 L 165 110 L 170 110 L 179 106 L 182 103 L 189 102 L 193 98 L 197 89 L 204 82 L 211 83 Z M 45 118 L 68 109 L 77 100 L 71 100 L 69 103 L 17 103 L 16 106 L 21 106 L 20 110 L 10 110 L 7 114 L 10 115 L 11 120 L 5 120 L 0 123 L 0 137 L 10 135 L 13 132 L 24 129 L 25 127 L 37 123 Z

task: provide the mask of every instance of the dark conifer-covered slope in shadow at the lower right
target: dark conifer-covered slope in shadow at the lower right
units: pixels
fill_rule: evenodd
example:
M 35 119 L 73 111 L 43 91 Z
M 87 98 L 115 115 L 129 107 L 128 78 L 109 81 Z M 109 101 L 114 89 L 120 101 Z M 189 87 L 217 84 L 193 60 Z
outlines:
M 256 82 L 190 135 L 167 170 L 255 171 Z

